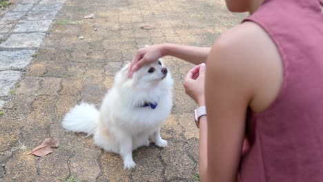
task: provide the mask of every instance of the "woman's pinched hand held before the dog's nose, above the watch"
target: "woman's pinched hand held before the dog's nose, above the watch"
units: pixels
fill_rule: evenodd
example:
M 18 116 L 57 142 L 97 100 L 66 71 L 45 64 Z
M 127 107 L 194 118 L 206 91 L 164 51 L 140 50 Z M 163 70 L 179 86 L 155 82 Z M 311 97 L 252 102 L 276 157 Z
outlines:
M 194 99 L 199 106 L 205 105 L 204 83 L 206 65 L 202 63 L 189 70 L 184 81 L 185 93 Z

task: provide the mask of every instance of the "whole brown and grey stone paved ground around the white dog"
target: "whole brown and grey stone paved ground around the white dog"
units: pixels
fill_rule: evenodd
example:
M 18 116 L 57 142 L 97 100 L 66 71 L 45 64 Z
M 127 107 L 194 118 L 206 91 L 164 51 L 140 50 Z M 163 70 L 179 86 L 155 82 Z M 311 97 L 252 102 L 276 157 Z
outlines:
M 95 19 L 84 19 L 92 13 Z M 231 14 L 223 1 L 211 0 L 26 0 L 4 16 L 14 23 L 1 18 L 0 74 L 15 74 L 6 88 L 12 100 L 0 95 L 8 101 L 0 109 L 0 181 L 196 179 L 196 105 L 182 88 L 190 63 L 165 58 L 175 79 L 173 112 L 161 131 L 168 147 L 152 144 L 133 152 L 135 170 L 123 170 L 118 155 L 96 148 L 85 134 L 65 132 L 61 119 L 80 101 L 99 107 L 113 75 L 137 48 L 164 42 L 211 46 L 246 14 Z M 141 29 L 143 24 L 153 29 Z M 59 139 L 59 148 L 43 158 L 28 155 L 50 136 Z

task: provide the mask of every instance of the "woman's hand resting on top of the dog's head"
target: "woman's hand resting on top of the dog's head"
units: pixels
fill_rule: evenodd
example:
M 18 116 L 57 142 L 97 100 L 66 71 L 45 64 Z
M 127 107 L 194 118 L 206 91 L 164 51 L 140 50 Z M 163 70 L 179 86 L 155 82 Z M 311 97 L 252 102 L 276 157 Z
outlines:
M 159 58 L 164 57 L 163 54 L 163 44 L 150 45 L 137 50 L 137 54 L 133 61 L 130 63 L 130 68 L 128 70 L 128 77 L 133 77 L 133 73 L 139 70 L 146 64 L 153 63 Z

